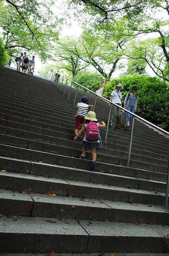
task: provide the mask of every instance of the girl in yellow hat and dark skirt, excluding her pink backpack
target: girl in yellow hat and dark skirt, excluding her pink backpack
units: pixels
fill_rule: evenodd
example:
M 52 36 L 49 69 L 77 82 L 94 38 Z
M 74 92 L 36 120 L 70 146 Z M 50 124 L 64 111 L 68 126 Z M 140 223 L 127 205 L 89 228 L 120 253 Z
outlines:
M 77 137 L 82 134 L 83 132 L 85 132 L 88 124 L 93 121 L 93 122 L 96 122 L 97 126 L 99 128 L 105 128 L 106 127 L 106 124 L 102 121 L 100 122 L 100 124 L 98 123 L 98 120 L 96 119 L 96 114 L 93 112 L 93 111 L 89 111 L 89 113 L 87 114 L 87 116 L 85 116 L 85 125 L 83 126 L 83 128 L 77 133 L 77 135 L 74 137 L 74 141 L 77 141 Z M 89 142 L 87 139 L 86 139 L 86 136 L 82 142 L 82 145 L 83 145 L 83 148 L 82 148 L 82 155 L 80 156 L 81 159 L 85 159 L 85 154 L 86 154 L 86 149 L 87 147 L 90 148 L 91 150 L 91 153 L 92 153 L 92 164 L 91 164 L 91 167 L 90 167 L 90 170 L 91 171 L 94 171 L 95 170 L 95 167 L 96 167 L 96 149 L 99 149 L 101 148 L 100 147 L 100 141 L 97 140 L 97 141 L 93 141 L 93 142 Z

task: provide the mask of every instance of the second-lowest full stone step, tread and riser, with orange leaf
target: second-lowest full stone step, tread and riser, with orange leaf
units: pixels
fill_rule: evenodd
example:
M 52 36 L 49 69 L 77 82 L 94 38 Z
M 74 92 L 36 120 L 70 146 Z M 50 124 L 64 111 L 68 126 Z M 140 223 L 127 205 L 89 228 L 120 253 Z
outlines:
M 169 224 L 168 210 L 158 205 L 20 192 L 0 190 L 1 212 L 4 212 L 4 216 Z

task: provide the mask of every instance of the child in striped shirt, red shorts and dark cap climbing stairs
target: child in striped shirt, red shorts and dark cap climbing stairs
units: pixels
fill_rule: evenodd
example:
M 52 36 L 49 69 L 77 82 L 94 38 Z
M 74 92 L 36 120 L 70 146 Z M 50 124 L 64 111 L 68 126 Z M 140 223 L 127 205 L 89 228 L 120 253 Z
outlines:
M 89 99 L 84 96 L 81 99 L 81 102 L 77 103 L 76 108 L 77 108 L 77 114 L 75 116 L 75 128 L 74 128 L 75 136 L 79 130 L 79 126 L 80 126 L 80 129 L 82 129 L 83 124 L 85 122 L 85 116 L 87 115 L 88 110 L 90 111 L 93 110 L 93 105 L 89 105 Z

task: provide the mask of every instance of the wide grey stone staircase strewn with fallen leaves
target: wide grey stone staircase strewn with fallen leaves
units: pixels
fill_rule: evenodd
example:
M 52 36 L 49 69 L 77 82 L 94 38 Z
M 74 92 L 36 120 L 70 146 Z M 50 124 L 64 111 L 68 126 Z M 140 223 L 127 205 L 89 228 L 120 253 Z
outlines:
M 105 143 L 102 129 L 96 172 L 89 171 L 90 151 L 79 159 L 83 138 L 72 141 L 76 89 L 67 101 L 69 90 L 63 96 L 64 85 L 0 67 L 0 254 L 169 255 L 162 208 L 169 140 L 136 120 L 126 167 L 129 131 L 117 125 Z M 99 121 L 108 110 L 98 99 Z

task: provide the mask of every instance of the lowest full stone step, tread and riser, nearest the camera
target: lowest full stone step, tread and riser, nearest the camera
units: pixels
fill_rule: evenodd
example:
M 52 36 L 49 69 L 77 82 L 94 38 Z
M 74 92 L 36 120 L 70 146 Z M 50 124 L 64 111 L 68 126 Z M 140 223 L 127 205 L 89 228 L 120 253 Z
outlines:
M 0 227 L 1 251 L 8 253 L 166 251 L 161 225 L 2 216 Z

